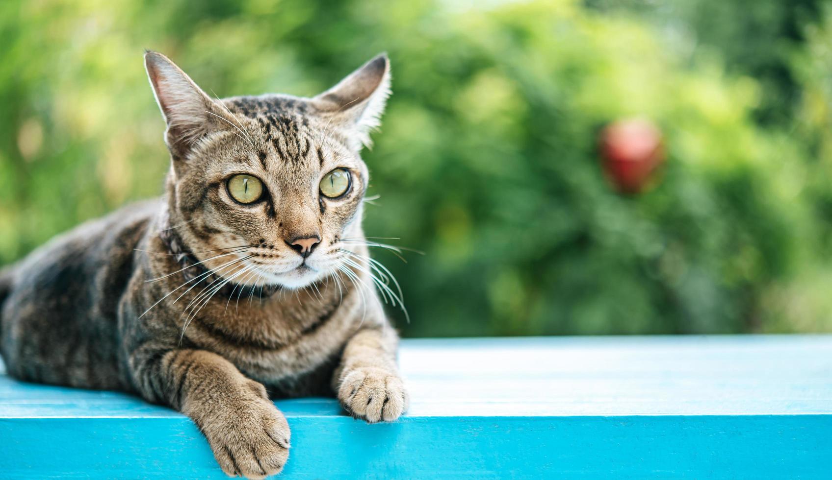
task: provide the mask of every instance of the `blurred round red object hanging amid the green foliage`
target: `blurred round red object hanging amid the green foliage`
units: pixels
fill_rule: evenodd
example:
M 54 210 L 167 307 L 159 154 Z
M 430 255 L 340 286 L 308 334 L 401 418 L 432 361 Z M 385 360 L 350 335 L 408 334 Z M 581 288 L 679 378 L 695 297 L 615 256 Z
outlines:
M 638 193 L 664 161 L 661 131 L 647 120 L 619 120 L 601 134 L 604 171 L 622 193 Z

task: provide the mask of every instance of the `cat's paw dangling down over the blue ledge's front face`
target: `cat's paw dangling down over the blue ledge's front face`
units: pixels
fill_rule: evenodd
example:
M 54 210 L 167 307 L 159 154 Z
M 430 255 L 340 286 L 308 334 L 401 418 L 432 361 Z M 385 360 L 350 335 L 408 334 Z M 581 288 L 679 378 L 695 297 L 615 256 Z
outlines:
M 201 425 L 214 457 L 230 477 L 265 478 L 280 473 L 289 458 L 289 424 L 266 398 L 262 385 L 251 389 L 257 394 L 221 405 Z

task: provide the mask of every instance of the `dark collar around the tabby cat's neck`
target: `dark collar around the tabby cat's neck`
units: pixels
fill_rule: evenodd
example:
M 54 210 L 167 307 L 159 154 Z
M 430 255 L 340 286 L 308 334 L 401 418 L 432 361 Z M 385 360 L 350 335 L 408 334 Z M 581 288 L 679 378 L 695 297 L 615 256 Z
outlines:
M 174 260 L 176 260 L 176 263 L 181 268 L 178 273 L 181 273 L 182 277 L 185 277 L 186 283 L 189 284 L 188 288 L 195 285 L 201 285 L 200 291 L 204 290 L 207 293 L 208 291 L 212 291 L 216 287 L 220 287 L 220 285 L 222 285 L 220 290 L 215 292 L 215 295 L 221 295 L 228 298 L 232 296 L 236 296 L 238 298 L 248 298 L 250 296 L 265 297 L 280 290 L 280 286 L 277 285 L 254 287 L 242 286 L 234 282 L 225 282 L 223 277 L 208 272 L 208 269 L 203 267 L 203 264 L 196 257 L 194 257 L 190 250 L 188 250 L 185 243 L 182 242 L 181 238 L 176 233 L 176 230 L 170 226 L 167 214 L 165 214 L 165 218 L 161 222 L 159 238 L 161 238 L 161 241 L 165 243 L 167 249 L 171 252 L 171 255 L 173 255 Z M 221 255 L 222 251 L 212 253 L 214 255 Z M 194 288 L 196 289 L 196 287 Z

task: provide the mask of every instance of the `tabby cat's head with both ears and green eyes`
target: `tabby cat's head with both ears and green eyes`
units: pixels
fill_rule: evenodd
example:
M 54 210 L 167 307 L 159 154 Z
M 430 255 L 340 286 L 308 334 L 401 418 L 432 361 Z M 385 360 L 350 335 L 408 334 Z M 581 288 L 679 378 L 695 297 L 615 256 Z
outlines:
M 145 66 L 167 123 L 171 227 L 194 256 L 243 285 L 335 272 L 339 249 L 363 238 L 359 152 L 389 96 L 387 56 L 312 98 L 219 100 L 166 56 L 149 51 Z

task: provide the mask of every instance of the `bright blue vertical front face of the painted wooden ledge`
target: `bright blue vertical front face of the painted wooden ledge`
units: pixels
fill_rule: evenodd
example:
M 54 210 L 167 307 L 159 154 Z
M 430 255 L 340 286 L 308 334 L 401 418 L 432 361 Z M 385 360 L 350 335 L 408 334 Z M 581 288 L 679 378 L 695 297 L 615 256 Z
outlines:
M 3 478 L 225 478 L 186 418 L 0 419 Z M 289 418 L 287 478 L 829 478 L 832 415 Z

